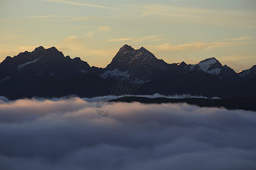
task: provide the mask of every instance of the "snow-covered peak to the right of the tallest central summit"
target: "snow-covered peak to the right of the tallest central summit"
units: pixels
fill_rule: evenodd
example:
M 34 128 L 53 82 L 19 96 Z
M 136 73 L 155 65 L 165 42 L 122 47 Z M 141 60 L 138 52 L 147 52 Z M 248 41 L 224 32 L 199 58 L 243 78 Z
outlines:
M 199 63 L 197 63 L 196 65 L 192 65 L 191 68 L 189 69 L 189 71 L 204 71 L 206 73 L 209 74 L 214 74 L 214 75 L 218 75 L 221 71 L 220 68 L 214 68 L 214 69 L 210 69 L 210 66 L 212 66 L 214 63 L 217 62 L 217 59 L 212 57 L 212 58 L 208 58 L 205 59 L 203 61 L 200 61 Z

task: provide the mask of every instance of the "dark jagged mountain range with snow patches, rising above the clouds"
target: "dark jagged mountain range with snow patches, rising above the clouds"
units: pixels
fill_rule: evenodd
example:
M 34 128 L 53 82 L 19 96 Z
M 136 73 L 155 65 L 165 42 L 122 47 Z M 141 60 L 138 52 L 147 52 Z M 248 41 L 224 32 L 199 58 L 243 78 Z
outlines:
M 0 96 L 9 99 L 155 93 L 228 98 L 256 96 L 255 87 L 256 65 L 236 73 L 214 57 L 195 65 L 170 64 L 129 45 L 123 45 L 105 68 L 43 46 L 0 63 Z

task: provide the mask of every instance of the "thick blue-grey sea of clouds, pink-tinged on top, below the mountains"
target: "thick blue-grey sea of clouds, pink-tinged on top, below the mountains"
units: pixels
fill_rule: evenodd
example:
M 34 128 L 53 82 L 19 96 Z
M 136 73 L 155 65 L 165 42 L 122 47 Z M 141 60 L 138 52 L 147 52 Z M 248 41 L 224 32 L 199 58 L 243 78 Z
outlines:
M 0 169 L 256 169 L 256 112 L 98 99 L 0 97 Z

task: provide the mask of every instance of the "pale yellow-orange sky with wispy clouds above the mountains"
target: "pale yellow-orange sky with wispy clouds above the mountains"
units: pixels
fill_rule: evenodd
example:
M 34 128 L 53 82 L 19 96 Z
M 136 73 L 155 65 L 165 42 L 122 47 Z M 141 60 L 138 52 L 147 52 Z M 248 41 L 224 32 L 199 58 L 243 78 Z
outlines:
M 1 0 L 0 61 L 56 46 L 106 67 L 124 44 L 167 63 L 216 57 L 235 71 L 256 64 L 255 0 Z

